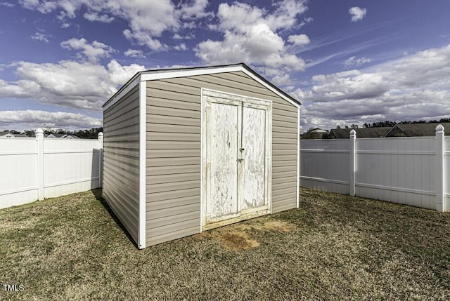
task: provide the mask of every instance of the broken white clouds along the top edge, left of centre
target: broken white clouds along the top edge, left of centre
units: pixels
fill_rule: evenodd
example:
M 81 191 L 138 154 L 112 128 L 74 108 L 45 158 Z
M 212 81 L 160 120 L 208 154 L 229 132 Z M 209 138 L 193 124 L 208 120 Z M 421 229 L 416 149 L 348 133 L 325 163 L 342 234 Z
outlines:
M 196 27 L 192 20 L 214 15 L 206 11 L 207 0 L 184 1 L 177 6 L 171 0 L 20 0 L 20 4 L 41 13 L 57 11 L 63 27 L 68 27 L 68 19 L 75 18 L 78 13 L 96 22 L 108 23 L 120 18 L 128 22 L 129 28 L 123 31 L 127 39 L 155 51 L 169 48 L 160 41 L 163 32 Z

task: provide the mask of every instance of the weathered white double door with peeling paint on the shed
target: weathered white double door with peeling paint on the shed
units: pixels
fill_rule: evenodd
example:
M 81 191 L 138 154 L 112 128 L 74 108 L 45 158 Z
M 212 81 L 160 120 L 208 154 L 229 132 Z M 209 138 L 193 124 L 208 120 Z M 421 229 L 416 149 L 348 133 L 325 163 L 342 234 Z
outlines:
M 204 224 L 269 213 L 271 102 L 204 91 Z

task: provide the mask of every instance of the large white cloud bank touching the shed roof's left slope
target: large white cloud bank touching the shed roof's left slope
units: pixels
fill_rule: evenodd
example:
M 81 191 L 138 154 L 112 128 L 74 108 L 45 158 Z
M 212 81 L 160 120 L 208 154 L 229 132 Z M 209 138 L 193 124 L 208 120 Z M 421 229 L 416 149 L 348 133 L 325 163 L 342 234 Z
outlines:
M 15 63 L 18 81 L 0 80 L 0 98 L 30 98 L 74 109 L 101 109 L 117 86 L 128 81 L 145 67 L 122 66 L 111 60 L 107 67 L 94 62 L 37 64 Z

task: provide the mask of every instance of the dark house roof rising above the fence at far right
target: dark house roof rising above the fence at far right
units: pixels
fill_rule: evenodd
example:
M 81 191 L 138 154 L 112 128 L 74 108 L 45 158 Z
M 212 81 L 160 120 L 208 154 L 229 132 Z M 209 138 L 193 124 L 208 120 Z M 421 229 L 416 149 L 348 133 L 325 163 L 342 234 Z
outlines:
M 438 123 L 398 123 L 393 126 L 384 137 L 420 137 L 436 135 L 436 127 L 442 124 L 446 130 L 445 135 L 450 134 L 450 122 Z M 358 133 L 356 132 L 356 137 Z

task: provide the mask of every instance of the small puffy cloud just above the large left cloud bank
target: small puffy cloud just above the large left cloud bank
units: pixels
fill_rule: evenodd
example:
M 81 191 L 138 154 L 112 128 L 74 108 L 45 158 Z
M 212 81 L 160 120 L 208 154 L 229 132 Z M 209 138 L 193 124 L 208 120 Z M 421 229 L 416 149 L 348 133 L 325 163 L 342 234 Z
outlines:
M 81 50 L 81 53 L 89 61 L 96 62 L 100 58 L 108 58 L 114 49 L 108 45 L 105 45 L 99 41 L 93 41 L 89 44 L 86 39 L 69 39 L 68 41 L 61 42 L 61 47 L 68 50 Z

